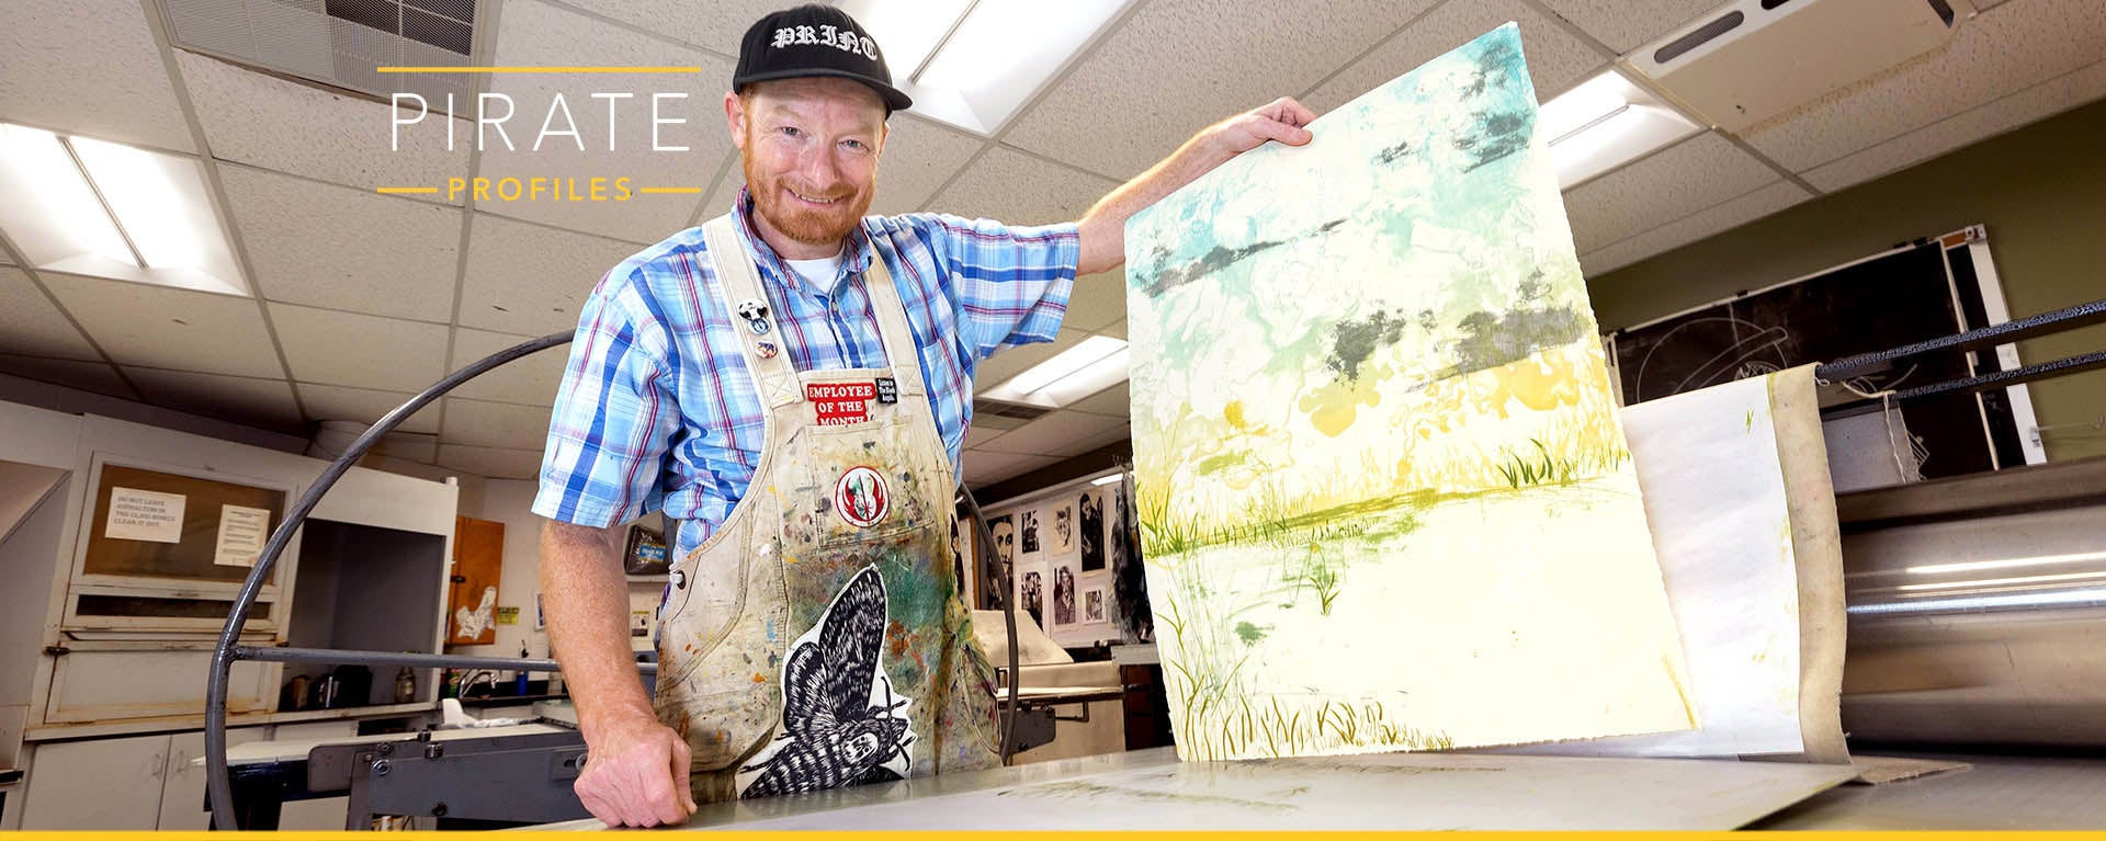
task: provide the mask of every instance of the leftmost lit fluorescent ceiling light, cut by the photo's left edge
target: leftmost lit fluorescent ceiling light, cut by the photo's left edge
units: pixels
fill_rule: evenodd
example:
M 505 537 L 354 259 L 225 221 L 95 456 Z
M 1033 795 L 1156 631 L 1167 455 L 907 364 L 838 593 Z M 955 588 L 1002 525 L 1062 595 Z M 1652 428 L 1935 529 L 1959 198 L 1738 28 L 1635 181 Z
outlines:
M 0 124 L 0 228 L 36 268 L 249 295 L 198 158 Z

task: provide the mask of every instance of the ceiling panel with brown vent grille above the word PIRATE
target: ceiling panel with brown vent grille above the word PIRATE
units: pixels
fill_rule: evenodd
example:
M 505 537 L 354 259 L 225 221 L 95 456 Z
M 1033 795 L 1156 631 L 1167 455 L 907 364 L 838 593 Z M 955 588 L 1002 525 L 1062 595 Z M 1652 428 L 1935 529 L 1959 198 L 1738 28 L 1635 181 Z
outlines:
M 417 93 L 434 112 L 474 99 L 470 74 L 377 67 L 470 65 L 476 0 L 160 0 L 168 40 L 185 51 L 388 101 Z

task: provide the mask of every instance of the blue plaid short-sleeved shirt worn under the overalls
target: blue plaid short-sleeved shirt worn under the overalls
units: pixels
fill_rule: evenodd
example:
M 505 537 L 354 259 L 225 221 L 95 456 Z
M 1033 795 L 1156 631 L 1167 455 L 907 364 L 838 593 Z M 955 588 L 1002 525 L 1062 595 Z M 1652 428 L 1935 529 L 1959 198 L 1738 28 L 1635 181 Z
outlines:
M 739 236 L 760 257 L 760 285 L 798 371 L 887 365 L 861 285 L 870 259 L 885 259 L 952 466 L 973 422 L 975 365 L 1005 346 L 1053 339 L 1082 249 L 1072 223 L 868 217 L 849 234 L 832 278 L 800 282 L 754 234 L 743 190 L 737 209 Z M 706 251 L 701 228 L 682 230 L 623 259 L 585 299 L 550 419 L 535 514 L 607 527 L 665 510 L 687 521 L 678 559 L 746 495 L 760 464 L 762 407 L 739 350 L 746 327 L 724 310 Z

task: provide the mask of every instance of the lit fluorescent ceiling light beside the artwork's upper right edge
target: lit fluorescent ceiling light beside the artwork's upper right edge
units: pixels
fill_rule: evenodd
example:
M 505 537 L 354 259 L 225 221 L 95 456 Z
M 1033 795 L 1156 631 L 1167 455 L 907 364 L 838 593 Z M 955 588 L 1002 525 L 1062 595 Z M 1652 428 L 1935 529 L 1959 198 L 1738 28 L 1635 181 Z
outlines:
M 1704 129 L 1609 70 L 1546 101 L 1535 131 L 1550 148 L 1558 190 L 1571 190 Z

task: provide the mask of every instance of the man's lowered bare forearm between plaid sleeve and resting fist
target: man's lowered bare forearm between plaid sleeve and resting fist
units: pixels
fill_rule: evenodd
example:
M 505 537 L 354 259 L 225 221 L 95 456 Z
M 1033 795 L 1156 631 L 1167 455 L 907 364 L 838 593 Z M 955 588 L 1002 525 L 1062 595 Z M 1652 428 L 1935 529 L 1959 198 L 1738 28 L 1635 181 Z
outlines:
M 613 719 L 655 717 L 630 653 L 630 588 L 617 535 L 617 529 L 541 525 L 548 639 L 588 740 Z

